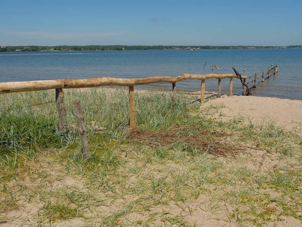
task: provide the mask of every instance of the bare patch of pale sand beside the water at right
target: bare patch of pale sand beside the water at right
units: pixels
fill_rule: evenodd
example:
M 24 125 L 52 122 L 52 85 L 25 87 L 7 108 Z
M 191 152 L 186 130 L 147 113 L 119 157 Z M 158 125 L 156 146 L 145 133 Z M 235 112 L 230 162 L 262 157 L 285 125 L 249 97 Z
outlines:
M 201 108 L 219 106 L 209 117 L 223 122 L 242 119 L 261 125 L 273 122 L 297 133 L 302 132 L 302 101 L 256 96 L 222 96 L 206 102 Z M 242 118 L 243 117 L 243 118 Z

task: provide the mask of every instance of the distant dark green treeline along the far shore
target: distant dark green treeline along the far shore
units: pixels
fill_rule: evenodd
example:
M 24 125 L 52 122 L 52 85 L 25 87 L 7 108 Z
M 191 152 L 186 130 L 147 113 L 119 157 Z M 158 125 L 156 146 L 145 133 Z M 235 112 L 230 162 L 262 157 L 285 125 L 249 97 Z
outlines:
M 161 50 L 161 49 L 262 49 L 262 48 L 302 48 L 302 46 L 142 46 L 142 45 L 88 45 L 88 46 L 4 46 L 0 52 L 13 51 L 53 51 L 53 50 Z

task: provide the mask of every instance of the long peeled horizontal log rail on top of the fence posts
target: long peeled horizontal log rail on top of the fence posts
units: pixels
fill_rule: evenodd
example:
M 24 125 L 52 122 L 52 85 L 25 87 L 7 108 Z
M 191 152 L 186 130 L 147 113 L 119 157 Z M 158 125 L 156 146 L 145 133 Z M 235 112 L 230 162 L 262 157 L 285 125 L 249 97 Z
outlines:
M 39 91 L 58 88 L 88 88 L 101 86 L 126 86 L 152 84 L 152 83 L 176 83 L 183 80 L 205 80 L 205 79 L 224 79 L 238 78 L 235 74 L 208 74 L 192 75 L 182 74 L 178 77 L 157 76 L 138 79 L 120 79 L 111 77 L 99 77 L 92 79 L 65 79 L 65 80 L 39 80 L 25 82 L 6 82 L 0 83 L 0 94 L 22 92 L 22 91 Z M 247 79 L 246 76 L 242 76 Z

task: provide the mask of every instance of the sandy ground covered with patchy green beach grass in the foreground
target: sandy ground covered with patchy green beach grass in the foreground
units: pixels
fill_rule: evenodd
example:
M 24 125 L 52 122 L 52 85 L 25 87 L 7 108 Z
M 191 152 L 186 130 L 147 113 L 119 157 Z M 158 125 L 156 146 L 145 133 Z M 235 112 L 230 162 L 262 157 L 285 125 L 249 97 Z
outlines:
M 64 90 L 1 95 L 0 223 L 40 226 L 225 226 L 302 221 L 302 140 L 274 124 L 216 122 L 196 96 Z M 72 101 L 84 109 L 83 159 Z M 45 104 L 41 104 L 45 103 Z M 26 212 L 24 212 L 26 210 Z M 202 216 L 202 218 L 201 218 Z

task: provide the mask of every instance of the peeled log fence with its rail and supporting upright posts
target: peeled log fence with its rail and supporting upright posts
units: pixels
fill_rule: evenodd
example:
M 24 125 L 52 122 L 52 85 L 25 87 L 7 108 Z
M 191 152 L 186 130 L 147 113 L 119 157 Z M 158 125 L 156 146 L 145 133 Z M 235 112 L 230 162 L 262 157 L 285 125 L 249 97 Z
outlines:
M 63 89 L 69 88 L 90 88 L 90 87 L 101 87 L 101 86 L 125 86 L 129 87 L 129 114 L 130 114 L 130 128 L 135 129 L 135 106 L 134 106 L 134 86 L 144 85 L 152 83 L 172 83 L 173 86 L 173 103 L 176 103 L 176 83 L 183 80 L 201 80 L 201 103 L 204 103 L 204 91 L 205 91 L 205 80 L 206 79 L 217 79 L 218 80 L 218 97 L 221 93 L 221 79 L 230 78 L 230 93 L 233 93 L 233 78 L 239 78 L 235 74 L 207 74 L 207 75 L 193 75 L 193 74 L 182 74 L 178 77 L 169 76 L 156 76 L 138 79 L 121 79 L 121 78 L 110 78 L 110 77 L 99 77 L 92 79 L 64 79 L 64 80 L 43 80 L 43 81 L 24 81 L 24 82 L 6 82 L 0 83 L 0 94 L 13 93 L 13 92 L 24 92 L 24 91 L 39 91 L 49 89 L 59 89 L 60 100 L 57 103 L 57 109 L 59 111 L 59 118 L 66 118 L 66 115 L 62 113 L 63 109 Z M 243 79 L 248 77 L 242 76 Z M 58 90 L 57 90 L 58 91 Z M 58 93 L 58 92 L 57 92 Z M 58 94 L 56 95 L 58 98 Z M 62 123 L 59 127 L 65 128 L 66 119 L 59 119 Z

